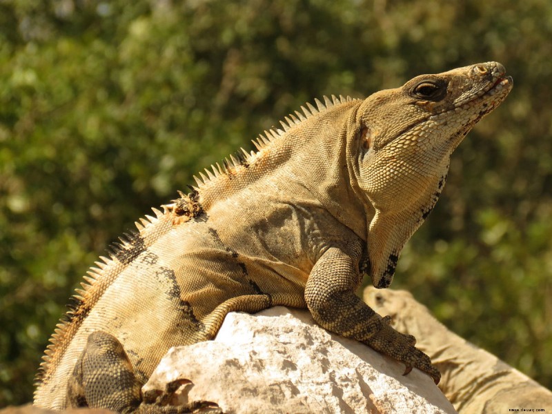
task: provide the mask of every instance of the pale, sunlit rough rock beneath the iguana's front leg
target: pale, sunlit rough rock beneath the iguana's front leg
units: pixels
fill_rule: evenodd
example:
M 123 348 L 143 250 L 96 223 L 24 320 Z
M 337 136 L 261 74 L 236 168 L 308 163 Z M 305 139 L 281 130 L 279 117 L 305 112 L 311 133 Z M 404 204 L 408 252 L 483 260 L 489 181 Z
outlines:
M 230 313 L 216 339 L 171 348 L 143 391 L 187 379 L 172 403 L 224 413 L 455 413 L 431 377 L 333 335 L 307 311 Z

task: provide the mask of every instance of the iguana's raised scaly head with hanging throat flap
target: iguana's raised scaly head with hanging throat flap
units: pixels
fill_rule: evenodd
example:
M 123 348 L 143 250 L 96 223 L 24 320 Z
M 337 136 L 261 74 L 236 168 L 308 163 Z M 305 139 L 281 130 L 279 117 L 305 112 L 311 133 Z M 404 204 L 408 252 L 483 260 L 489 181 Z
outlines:
M 497 62 L 421 75 L 364 100 L 358 184 L 371 206 L 364 268 L 377 288 L 391 284 L 402 246 L 441 193 L 452 152 L 510 92 Z

